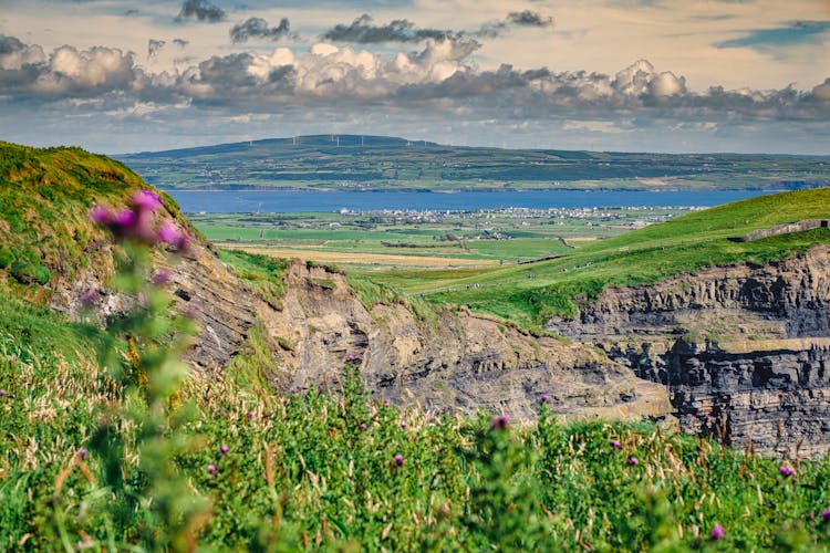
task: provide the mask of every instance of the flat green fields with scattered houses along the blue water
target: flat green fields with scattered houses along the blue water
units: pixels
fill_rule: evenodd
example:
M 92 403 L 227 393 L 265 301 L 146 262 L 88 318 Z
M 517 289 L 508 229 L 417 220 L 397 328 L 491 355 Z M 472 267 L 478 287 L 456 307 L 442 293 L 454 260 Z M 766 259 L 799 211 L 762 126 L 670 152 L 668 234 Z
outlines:
M 193 215 L 193 223 L 219 246 L 354 254 L 349 265 L 390 267 L 361 262 L 365 254 L 481 260 L 515 264 L 563 255 L 573 244 L 608 238 L 639 226 L 664 221 L 687 209 L 490 210 L 403 215 L 270 213 Z M 332 263 L 342 264 L 342 255 Z

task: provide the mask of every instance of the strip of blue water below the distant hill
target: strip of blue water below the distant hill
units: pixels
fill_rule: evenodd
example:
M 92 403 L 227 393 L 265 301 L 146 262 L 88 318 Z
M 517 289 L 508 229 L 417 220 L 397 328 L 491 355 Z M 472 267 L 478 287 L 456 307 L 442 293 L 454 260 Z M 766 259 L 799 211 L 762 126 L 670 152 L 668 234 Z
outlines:
M 185 212 L 298 212 L 372 211 L 383 209 L 475 210 L 507 207 L 591 208 L 591 207 L 691 207 L 719 206 L 769 194 L 762 190 L 719 191 L 621 191 L 621 190 L 528 190 L 460 192 L 320 192 L 309 190 L 221 190 L 168 191 Z

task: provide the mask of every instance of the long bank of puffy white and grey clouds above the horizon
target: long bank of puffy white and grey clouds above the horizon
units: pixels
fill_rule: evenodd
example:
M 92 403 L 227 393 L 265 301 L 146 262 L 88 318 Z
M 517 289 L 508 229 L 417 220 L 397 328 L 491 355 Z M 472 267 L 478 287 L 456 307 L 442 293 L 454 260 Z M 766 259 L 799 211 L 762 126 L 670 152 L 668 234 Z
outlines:
M 419 51 L 381 55 L 319 43 L 301 53 L 278 48 L 270 53 L 181 60 L 179 71 L 157 73 L 137 66 L 132 53 L 117 49 L 66 45 L 46 54 L 41 46 L 0 36 L 0 97 L 44 106 L 86 102 L 97 111 L 132 98 L 159 109 L 185 105 L 237 113 L 304 113 L 310 118 L 324 112 L 361 117 L 371 112 L 517 125 L 584 119 L 598 122 L 596 128 L 602 122 L 620 127 L 620 121 L 636 128 L 656 122 L 665 128 L 707 122 L 748 128 L 830 119 L 826 76 L 808 91 L 715 86 L 696 93 L 688 90 L 684 76 L 657 70 L 646 60 L 613 75 L 520 70 L 510 64 L 483 71 L 470 59 L 477 48 L 465 40 L 427 39 Z

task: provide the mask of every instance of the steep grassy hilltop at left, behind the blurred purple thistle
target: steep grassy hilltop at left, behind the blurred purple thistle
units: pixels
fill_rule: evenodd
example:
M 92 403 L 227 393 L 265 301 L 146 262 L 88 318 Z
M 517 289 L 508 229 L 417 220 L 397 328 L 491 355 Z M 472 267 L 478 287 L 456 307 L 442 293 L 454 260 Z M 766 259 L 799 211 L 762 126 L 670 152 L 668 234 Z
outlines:
M 87 212 L 97 202 L 123 205 L 141 188 L 148 186 L 138 175 L 104 156 L 0 142 L 0 285 L 45 300 L 55 281 L 71 280 L 87 267 L 110 267 L 108 238 Z M 185 223 L 176 202 L 162 198 Z M 21 265 L 41 278 L 20 274 Z

